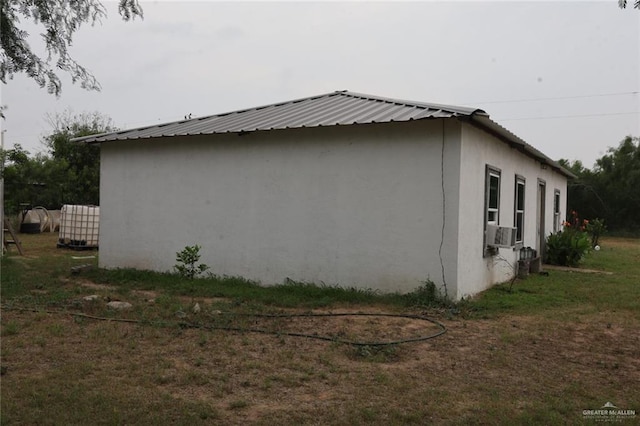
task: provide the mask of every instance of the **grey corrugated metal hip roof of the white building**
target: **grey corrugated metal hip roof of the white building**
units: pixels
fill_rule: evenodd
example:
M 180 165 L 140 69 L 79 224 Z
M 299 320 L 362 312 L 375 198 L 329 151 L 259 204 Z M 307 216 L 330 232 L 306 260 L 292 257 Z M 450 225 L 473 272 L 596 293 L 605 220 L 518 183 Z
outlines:
M 489 115 L 481 109 L 383 98 L 346 90 L 224 114 L 91 135 L 76 138 L 74 141 L 103 143 L 118 140 L 390 123 L 433 118 L 458 118 L 470 122 L 492 133 L 511 147 L 536 158 L 543 164 L 550 165 L 565 176 L 574 177 L 555 161 L 492 121 Z

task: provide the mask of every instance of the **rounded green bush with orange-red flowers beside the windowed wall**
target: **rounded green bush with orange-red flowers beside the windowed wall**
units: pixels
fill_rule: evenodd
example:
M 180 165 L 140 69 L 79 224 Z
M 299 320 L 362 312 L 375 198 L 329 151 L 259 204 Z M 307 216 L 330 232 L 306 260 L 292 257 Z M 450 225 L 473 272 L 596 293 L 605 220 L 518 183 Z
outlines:
M 571 221 L 563 223 L 564 229 L 547 237 L 546 262 L 551 265 L 578 266 L 591 248 L 586 232 L 589 221 L 580 221 L 578 213 L 571 212 Z

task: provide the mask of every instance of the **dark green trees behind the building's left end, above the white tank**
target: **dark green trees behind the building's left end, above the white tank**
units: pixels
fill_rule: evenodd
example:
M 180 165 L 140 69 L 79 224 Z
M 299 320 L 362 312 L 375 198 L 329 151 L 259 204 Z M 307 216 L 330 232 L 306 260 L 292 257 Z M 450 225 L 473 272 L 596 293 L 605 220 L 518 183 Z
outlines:
M 63 204 L 100 204 L 100 149 L 71 139 L 114 131 L 111 119 L 66 112 L 49 122 L 53 131 L 43 139 L 47 152 L 31 155 L 21 145 L 2 152 L 7 215 L 25 205 L 59 209 Z

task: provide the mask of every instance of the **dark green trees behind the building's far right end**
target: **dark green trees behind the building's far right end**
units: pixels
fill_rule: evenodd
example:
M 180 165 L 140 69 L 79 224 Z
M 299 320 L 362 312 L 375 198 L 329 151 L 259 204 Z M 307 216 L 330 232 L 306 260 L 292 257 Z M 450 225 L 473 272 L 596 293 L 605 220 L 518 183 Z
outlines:
M 604 219 L 609 231 L 640 234 L 640 138 L 627 136 L 592 169 L 560 160 L 577 176 L 568 185 L 568 211 Z

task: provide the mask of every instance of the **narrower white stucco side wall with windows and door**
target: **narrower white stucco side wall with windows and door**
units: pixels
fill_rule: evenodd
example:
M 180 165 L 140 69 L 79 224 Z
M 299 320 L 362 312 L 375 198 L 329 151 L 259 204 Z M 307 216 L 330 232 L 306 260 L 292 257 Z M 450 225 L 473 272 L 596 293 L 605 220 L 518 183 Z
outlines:
M 538 180 L 545 182 L 545 236 L 553 230 L 554 190 L 560 190 L 561 218 L 566 215 L 566 178 L 551 168 L 510 148 L 489 133 L 470 124 L 462 127 L 461 219 L 458 246 L 457 298 L 476 294 L 492 284 L 509 280 L 518 260 L 517 250 L 499 249 L 496 256 L 483 256 L 485 220 L 485 168 L 501 171 L 499 225 L 515 226 L 516 175 L 525 178 L 523 246 L 536 248 Z

